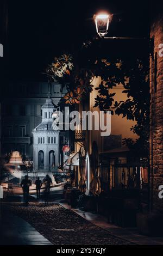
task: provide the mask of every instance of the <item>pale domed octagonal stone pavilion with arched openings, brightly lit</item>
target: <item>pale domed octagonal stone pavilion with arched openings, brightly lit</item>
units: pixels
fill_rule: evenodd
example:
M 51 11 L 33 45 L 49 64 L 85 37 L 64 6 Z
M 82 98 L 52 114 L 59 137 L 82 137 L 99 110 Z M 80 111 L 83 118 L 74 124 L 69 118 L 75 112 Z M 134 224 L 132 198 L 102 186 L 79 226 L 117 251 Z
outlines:
M 33 130 L 34 172 L 54 170 L 60 162 L 59 130 L 53 125 L 54 105 L 50 97 L 41 109 L 42 122 Z

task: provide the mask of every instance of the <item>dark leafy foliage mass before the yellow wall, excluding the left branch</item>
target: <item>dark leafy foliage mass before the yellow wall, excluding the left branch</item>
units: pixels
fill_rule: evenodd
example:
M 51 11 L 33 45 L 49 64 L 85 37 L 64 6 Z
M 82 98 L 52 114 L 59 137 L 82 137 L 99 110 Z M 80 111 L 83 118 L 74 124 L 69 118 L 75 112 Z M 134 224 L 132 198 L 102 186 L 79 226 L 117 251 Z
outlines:
M 136 133 L 139 139 L 134 143 L 133 139 L 124 139 L 134 154 L 148 155 L 149 150 L 149 75 L 148 65 L 143 65 L 140 60 L 135 60 L 132 66 L 122 63 L 120 72 L 115 70 L 114 76 L 109 72 L 109 82 L 104 82 L 96 88 L 99 96 L 96 97 L 95 107 L 102 111 L 111 111 L 111 114 L 122 115 L 128 120 L 135 120 L 136 125 L 131 131 Z M 111 74 L 111 75 L 110 75 Z M 118 84 L 123 84 L 122 93 L 127 94 L 126 101 L 114 102 L 115 93 L 109 93 L 109 89 Z

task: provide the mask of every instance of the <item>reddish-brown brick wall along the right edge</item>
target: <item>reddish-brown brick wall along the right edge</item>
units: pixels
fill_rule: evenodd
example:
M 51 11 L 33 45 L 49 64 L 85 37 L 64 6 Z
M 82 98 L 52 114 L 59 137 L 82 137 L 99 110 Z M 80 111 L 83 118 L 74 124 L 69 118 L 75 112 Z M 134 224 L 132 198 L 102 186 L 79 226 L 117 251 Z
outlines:
M 151 25 L 154 36 L 154 53 L 151 57 L 151 202 L 153 212 L 163 213 L 163 199 L 159 199 L 159 186 L 163 185 L 163 57 L 159 45 L 163 44 L 163 11 L 155 15 Z

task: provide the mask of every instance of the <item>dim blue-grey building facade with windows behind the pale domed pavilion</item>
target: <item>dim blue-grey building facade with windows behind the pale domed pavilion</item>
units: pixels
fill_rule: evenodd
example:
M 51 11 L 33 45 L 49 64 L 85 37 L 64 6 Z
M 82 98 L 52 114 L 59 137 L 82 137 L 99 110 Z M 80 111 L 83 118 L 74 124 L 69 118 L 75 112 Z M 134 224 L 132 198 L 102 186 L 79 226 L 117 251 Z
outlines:
M 33 129 L 42 122 L 41 106 L 48 95 L 47 82 L 14 82 L 1 87 L 1 157 L 12 151 L 21 156 L 33 158 Z M 55 82 L 50 88 L 51 99 L 55 106 L 64 111 L 62 97 L 66 87 Z M 59 136 L 60 162 L 64 162 L 62 147 L 70 145 L 73 150 L 70 131 L 61 131 Z

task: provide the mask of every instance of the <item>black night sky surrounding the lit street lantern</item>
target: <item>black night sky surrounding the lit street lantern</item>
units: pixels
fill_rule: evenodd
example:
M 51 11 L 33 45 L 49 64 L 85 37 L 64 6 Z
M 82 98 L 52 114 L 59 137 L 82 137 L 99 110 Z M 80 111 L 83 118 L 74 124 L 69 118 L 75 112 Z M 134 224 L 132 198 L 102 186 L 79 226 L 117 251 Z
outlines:
M 54 56 L 73 53 L 96 35 L 93 14 L 105 9 L 114 14 L 109 36 L 148 36 L 150 2 L 143 1 L 8 1 L 8 52 L 11 80 L 43 80 L 41 72 Z M 105 41 L 109 56 L 141 54 L 137 41 Z M 107 57 L 106 56 L 106 57 Z

